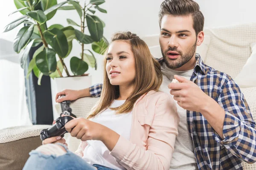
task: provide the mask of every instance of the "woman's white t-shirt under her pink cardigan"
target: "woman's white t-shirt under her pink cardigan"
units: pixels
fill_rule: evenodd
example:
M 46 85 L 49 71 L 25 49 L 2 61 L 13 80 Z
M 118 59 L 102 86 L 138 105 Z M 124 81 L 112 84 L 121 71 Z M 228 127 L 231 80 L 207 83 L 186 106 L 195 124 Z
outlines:
M 119 107 L 120 105 L 124 104 L 124 102 L 125 100 L 114 100 L 108 109 L 90 120 L 110 128 L 119 135 L 125 137 L 125 139 L 129 140 L 131 133 L 132 113 L 116 114 L 116 111 L 112 111 L 110 109 Z M 83 151 L 83 159 L 89 164 L 100 164 L 116 170 L 125 170 L 125 168 L 119 165 L 114 157 L 109 154 L 110 151 L 103 142 L 97 140 L 87 140 L 87 143 L 88 145 Z

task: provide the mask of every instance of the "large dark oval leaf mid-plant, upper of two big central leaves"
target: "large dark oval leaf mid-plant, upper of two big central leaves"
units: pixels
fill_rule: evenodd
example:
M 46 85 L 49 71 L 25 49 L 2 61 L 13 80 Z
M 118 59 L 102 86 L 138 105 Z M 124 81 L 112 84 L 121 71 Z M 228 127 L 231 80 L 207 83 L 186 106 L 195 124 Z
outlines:
M 44 32 L 44 37 L 46 42 L 51 45 L 59 57 L 64 58 L 67 55 L 68 43 L 63 31 L 58 28 L 52 28 Z

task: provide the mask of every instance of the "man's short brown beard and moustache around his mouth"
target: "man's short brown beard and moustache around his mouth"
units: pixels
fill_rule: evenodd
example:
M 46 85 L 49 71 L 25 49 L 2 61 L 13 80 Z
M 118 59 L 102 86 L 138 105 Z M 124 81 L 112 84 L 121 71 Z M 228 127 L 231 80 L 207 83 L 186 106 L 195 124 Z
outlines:
M 188 48 L 185 54 L 183 54 L 182 51 L 177 50 L 176 47 L 174 48 L 169 47 L 165 52 L 163 52 L 161 48 L 163 60 L 166 63 L 167 67 L 169 68 L 173 68 L 173 69 L 180 68 L 181 66 L 189 62 L 189 60 L 193 57 L 193 55 L 195 54 L 195 47 L 196 47 L 196 42 L 194 45 L 192 45 L 192 47 Z M 169 57 L 167 57 L 168 51 L 177 51 L 180 54 L 180 57 L 177 59 L 170 59 Z

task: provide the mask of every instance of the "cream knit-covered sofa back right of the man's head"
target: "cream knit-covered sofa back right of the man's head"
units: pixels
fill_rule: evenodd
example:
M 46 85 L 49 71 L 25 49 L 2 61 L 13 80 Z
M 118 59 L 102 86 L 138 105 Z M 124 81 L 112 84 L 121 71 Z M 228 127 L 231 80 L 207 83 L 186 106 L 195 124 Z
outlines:
M 255 30 L 256 23 L 205 28 L 204 33 L 211 37 L 211 42 L 204 63 L 235 78 L 250 57 Z

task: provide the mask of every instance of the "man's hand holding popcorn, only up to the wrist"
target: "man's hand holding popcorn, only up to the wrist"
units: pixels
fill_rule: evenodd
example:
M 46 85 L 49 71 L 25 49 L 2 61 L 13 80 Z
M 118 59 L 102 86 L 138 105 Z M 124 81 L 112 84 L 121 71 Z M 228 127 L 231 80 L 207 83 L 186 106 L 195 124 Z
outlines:
M 180 83 L 170 83 L 168 88 L 172 89 L 170 94 L 174 96 L 173 99 L 183 109 L 201 112 L 206 102 L 212 102 L 210 100 L 212 98 L 205 94 L 194 82 L 177 75 L 174 77 Z M 215 101 L 213 100 L 213 102 Z

